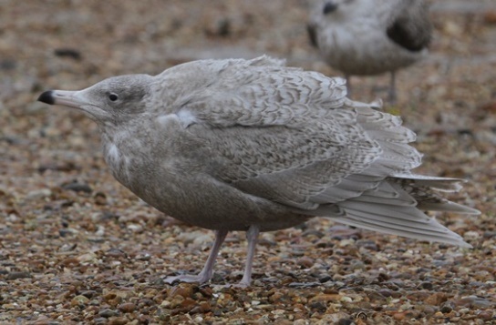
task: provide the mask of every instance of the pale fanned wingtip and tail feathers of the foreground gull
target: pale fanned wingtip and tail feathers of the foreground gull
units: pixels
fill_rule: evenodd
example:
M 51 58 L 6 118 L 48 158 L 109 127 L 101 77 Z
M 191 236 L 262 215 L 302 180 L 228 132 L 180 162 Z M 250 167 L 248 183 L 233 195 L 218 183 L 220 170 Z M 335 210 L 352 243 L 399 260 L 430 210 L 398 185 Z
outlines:
M 411 179 L 410 179 L 411 180 Z M 478 210 L 440 198 L 430 188 L 416 188 L 416 180 L 404 184 L 397 178 L 386 178 L 377 188 L 367 189 L 360 196 L 334 205 L 321 205 L 314 212 L 350 226 L 374 230 L 412 239 L 438 241 L 460 247 L 471 247 L 458 234 L 439 224 L 421 210 L 478 214 Z M 426 178 L 421 182 L 442 185 L 442 178 Z M 456 182 L 448 179 L 451 185 Z M 451 186 L 449 185 L 449 186 Z M 445 186 L 444 188 L 449 188 Z M 332 207 L 332 208 L 331 208 Z M 338 208 L 336 208 L 338 207 Z

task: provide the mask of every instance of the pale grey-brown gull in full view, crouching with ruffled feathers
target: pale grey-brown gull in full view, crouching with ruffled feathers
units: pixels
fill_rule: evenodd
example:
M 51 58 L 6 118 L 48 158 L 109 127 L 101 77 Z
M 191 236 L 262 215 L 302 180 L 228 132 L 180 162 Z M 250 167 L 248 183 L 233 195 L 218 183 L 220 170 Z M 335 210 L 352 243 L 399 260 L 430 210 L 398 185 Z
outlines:
M 346 98 L 345 80 L 268 56 L 201 60 L 158 76 L 103 80 L 38 100 L 76 107 L 101 130 L 115 178 L 181 221 L 215 230 L 206 282 L 228 231 L 247 232 L 241 286 L 260 231 L 325 216 L 413 239 L 470 247 L 421 209 L 476 214 L 434 189 L 460 179 L 413 174 L 420 154 L 401 119 Z

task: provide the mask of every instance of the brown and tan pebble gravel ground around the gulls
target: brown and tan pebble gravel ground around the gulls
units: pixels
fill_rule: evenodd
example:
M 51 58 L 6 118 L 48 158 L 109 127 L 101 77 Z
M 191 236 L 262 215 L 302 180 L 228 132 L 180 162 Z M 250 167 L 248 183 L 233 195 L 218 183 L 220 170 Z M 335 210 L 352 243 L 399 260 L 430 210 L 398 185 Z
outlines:
M 263 53 L 338 75 L 305 35 L 303 0 L 5 0 L 0 10 L 0 323 L 381 324 L 496 322 L 496 5 L 433 1 L 431 55 L 398 73 L 401 114 L 422 173 L 467 178 L 450 198 L 479 217 L 437 216 L 474 249 L 313 219 L 261 236 L 253 286 L 179 284 L 212 234 L 148 207 L 109 174 L 87 117 L 36 103 L 45 87 L 156 74 L 202 57 Z M 464 2 L 465 3 L 465 2 Z M 354 79 L 387 95 L 387 76 Z M 241 279 L 230 234 L 215 283 Z M 202 253 L 199 253 L 202 252 Z

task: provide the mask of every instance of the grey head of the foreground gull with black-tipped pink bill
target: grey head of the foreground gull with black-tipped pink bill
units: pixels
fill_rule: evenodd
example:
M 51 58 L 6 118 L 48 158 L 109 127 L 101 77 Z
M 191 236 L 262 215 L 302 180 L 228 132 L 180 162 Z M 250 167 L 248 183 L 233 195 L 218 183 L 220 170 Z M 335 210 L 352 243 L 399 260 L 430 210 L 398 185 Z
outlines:
M 152 76 L 113 76 L 83 90 L 48 90 L 38 100 L 82 110 L 98 125 L 117 126 L 146 111 Z

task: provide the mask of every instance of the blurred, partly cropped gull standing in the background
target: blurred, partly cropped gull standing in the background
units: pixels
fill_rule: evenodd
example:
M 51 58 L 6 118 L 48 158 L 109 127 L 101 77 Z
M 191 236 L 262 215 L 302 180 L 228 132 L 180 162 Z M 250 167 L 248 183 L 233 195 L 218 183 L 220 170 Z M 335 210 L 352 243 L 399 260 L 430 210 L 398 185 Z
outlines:
M 390 102 L 396 70 L 426 56 L 431 34 L 422 0 L 316 0 L 308 24 L 312 44 L 348 88 L 350 76 L 390 72 Z

